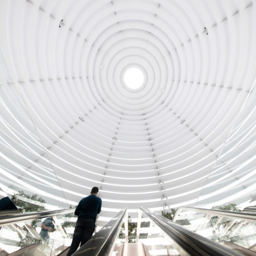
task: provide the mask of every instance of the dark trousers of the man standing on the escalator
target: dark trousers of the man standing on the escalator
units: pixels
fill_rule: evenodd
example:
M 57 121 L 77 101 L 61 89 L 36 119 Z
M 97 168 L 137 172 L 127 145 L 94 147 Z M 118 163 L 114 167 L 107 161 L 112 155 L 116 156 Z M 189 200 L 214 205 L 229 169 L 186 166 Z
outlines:
M 76 222 L 76 227 L 73 235 L 73 240 L 67 256 L 72 255 L 78 248 L 79 244 L 82 246 L 93 235 L 95 229 L 95 222 L 90 219 L 81 219 Z

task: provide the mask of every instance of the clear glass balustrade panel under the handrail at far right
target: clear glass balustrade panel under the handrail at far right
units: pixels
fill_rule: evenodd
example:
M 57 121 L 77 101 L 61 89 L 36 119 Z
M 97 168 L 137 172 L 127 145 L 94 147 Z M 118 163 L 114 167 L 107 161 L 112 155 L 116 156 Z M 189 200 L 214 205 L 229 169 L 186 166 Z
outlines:
M 175 222 L 212 241 L 232 248 L 234 248 L 233 244 L 237 244 L 254 250 L 256 223 L 253 221 L 221 217 L 206 212 L 181 210 Z

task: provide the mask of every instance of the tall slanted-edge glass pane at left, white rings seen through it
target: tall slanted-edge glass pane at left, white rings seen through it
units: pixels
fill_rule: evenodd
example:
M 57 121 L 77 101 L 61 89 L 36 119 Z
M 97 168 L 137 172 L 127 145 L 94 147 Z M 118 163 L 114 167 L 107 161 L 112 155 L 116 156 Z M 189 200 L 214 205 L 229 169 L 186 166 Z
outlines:
M 49 158 L 55 139 L 26 100 L 31 82 L 16 80 L 1 49 L 0 84 L 0 187 L 22 212 L 68 208 Z

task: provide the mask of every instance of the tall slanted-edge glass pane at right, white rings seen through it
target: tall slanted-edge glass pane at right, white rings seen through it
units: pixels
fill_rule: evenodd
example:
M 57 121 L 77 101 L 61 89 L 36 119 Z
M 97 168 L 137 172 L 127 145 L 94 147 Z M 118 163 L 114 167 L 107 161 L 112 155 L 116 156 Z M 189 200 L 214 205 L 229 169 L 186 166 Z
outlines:
M 241 111 L 232 123 L 195 207 L 247 202 L 246 207 L 253 205 L 253 201 L 255 205 L 255 92 L 256 85 L 253 84 L 246 94 L 241 95 Z

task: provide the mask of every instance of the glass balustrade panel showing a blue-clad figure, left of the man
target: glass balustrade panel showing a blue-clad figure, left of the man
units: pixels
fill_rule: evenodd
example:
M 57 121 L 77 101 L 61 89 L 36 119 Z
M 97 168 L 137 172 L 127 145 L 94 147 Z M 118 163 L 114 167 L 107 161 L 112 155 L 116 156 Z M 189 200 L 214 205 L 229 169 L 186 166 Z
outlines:
M 66 214 L 2 226 L 0 248 L 8 253 L 23 249 L 34 255 L 57 255 L 70 246 L 76 219 Z

